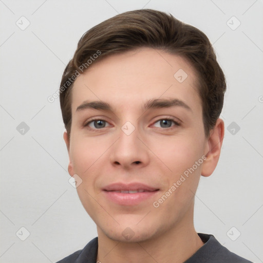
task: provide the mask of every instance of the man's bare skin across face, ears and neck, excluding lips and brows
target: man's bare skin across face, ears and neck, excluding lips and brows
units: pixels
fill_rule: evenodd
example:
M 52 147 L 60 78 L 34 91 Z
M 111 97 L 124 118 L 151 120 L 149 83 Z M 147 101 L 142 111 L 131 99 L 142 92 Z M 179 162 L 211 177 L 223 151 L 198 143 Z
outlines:
M 174 78 L 178 69 L 188 75 L 182 83 Z M 77 192 L 97 224 L 97 260 L 102 263 L 183 262 L 203 245 L 193 223 L 194 194 L 200 176 L 210 176 L 215 170 L 224 124 L 218 119 L 205 137 L 196 80 L 195 70 L 185 59 L 140 48 L 93 64 L 74 82 L 70 142 L 64 133 L 68 172 L 82 179 Z M 142 110 L 144 102 L 153 98 L 177 98 L 191 109 Z M 105 101 L 112 111 L 76 111 L 85 100 Z M 104 127 L 98 128 L 95 122 L 83 127 L 91 117 L 105 120 Z M 180 125 L 172 121 L 163 126 L 161 120 L 167 117 Z M 127 121 L 135 127 L 130 135 L 121 129 Z M 206 160 L 155 208 L 153 202 L 202 156 Z M 102 191 L 114 182 L 141 182 L 159 192 L 138 205 L 119 205 Z M 126 228 L 134 233 L 129 240 L 122 235 Z

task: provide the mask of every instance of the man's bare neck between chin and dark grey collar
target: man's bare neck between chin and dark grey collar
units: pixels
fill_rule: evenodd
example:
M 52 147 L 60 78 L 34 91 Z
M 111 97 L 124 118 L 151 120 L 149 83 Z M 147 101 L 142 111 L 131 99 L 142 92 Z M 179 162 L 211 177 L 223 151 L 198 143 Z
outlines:
M 181 221 L 165 233 L 141 242 L 112 240 L 98 228 L 97 261 L 103 263 L 184 262 L 201 248 L 203 242 L 194 229 L 193 219 L 189 222 L 185 222 L 185 219 Z

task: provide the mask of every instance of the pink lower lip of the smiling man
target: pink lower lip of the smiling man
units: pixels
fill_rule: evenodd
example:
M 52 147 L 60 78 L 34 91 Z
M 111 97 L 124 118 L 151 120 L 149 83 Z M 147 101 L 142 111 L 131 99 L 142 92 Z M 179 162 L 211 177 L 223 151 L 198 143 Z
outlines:
M 103 191 L 107 198 L 120 205 L 136 205 L 149 198 L 154 197 L 159 191 L 142 192 L 134 194 L 117 193 L 112 191 Z

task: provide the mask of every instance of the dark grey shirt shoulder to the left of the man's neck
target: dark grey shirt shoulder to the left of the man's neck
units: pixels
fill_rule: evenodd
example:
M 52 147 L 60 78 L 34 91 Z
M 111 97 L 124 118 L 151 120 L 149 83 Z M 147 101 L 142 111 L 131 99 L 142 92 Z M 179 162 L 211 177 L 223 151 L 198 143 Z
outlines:
M 90 240 L 87 245 L 56 263 L 84 263 L 96 262 L 98 252 L 98 237 Z

